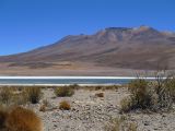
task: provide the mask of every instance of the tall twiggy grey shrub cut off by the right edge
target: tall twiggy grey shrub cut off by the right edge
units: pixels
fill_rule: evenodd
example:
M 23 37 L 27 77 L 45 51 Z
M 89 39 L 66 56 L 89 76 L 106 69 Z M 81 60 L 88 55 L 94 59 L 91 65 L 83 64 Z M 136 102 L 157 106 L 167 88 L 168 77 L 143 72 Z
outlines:
M 171 72 L 172 73 L 172 72 Z M 167 74 L 166 72 L 158 72 L 155 75 L 155 82 L 152 83 L 154 94 L 152 104 L 153 109 L 156 110 L 170 110 L 175 103 L 175 75 Z

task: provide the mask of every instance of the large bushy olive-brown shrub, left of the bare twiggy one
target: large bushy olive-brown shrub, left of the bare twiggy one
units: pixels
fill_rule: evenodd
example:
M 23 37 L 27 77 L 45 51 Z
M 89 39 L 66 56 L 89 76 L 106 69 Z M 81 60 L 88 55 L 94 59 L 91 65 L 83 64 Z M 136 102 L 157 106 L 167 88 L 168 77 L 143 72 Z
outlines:
M 143 79 L 133 80 L 129 83 L 130 96 L 120 102 L 120 111 L 128 112 L 135 109 L 152 109 L 153 100 L 150 83 Z

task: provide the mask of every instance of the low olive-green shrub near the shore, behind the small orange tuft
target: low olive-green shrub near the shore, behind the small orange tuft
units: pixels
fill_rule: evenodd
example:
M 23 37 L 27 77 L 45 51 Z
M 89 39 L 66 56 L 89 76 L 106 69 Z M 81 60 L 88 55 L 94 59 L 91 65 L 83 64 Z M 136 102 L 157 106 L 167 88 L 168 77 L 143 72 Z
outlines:
M 70 86 L 56 87 L 55 94 L 58 97 L 66 97 L 66 96 L 70 97 L 74 94 L 74 90 L 71 88 Z

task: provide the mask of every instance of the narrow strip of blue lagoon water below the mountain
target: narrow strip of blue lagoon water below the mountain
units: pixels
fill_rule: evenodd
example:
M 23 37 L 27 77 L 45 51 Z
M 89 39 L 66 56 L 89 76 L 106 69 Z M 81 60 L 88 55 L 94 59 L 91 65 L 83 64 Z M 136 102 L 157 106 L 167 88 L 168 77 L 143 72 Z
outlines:
M 84 79 L 60 79 L 60 78 L 55 78 L 55 79 L 36 79 L 36 78 L 0 78 L 0 84 L 127 84 L 129 83 L 131 80 L 133 80 L 133 78 L 130 78 L 130 79 L 121 79 L 121 78 L 101 78 L 101 79 L 96 79 L 96 78 L 84 78 Z

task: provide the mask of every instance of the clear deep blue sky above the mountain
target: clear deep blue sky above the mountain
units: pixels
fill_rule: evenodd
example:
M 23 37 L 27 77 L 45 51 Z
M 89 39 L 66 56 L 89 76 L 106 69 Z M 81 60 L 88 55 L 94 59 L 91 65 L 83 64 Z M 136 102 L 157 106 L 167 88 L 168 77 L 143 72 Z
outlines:
M 140 25 L 175 32 L 175 0 L 0 0 L 0 56 Z

